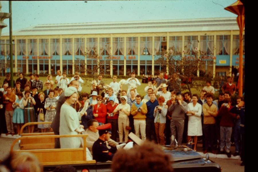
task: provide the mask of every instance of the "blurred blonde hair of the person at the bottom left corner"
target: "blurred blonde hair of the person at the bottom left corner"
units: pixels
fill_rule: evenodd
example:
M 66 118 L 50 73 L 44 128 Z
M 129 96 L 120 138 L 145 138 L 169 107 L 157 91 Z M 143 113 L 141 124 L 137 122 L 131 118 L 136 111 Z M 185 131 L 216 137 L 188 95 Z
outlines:
M 11 167 L 14 171 L 42 172 L 43 168 L 40 165 L 37 157 L 32 153 L 22 152 L 18 155 L 13 155 Z

